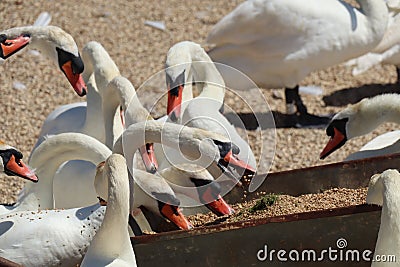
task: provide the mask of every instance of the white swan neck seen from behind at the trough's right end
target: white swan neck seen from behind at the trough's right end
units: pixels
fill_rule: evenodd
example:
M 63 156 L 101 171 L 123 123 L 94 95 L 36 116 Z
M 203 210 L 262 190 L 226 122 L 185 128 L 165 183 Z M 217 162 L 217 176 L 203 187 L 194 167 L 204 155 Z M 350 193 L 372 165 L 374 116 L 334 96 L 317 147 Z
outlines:
M 393 255 L 400 258 L 400 173 L 397 170 L 386 170 L 371 177 L 368 186 L 367 203 L 382 206 L 381 225 L 375 245 L 374 259 L 377 255 Z M 395 266 L 395 263 L 372 261 L 372 267 Z M 398 265 L 398 264 L 397 264 Z

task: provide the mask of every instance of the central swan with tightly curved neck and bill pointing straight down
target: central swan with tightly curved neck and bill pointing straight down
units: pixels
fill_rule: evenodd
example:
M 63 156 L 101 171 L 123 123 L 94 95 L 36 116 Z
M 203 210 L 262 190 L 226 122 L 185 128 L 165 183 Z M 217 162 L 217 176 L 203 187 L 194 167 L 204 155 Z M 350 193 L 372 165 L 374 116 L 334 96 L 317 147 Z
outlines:
M 173 66 L 173 63 L 181 63 L 181 65 Z M 166 69 L 167 87 L 169 88 L 167 110 L 169 117 L 175 121 L 177 118 L 181 118 L 181 123 L 186 126 L 228 136 L 239 147 L 239 157 L 256 169 L 257 163 L 249 144 L 240 137 L 233 125 L 219 112 L 224 102 L 225 83 L 204 49 L 193 42 L 177 43 L 168 51 L 166 66 L 169 67 Z M 192 77 L 186 77 L 186 73 L 194 74 Z M 191 100 L 185 99 L 186 95 L 190 94 L 183 97 L 186 84 L 182 84 L 182 82 L 188 79 L 193 79 L 202 85 L 200 95 Z M 179 105 L 185 101 L 188 102 L 181 111 Z M 182 116 L 181 112 L 183 112 Z M 176 153 L 168 156 L 169 151 L 171 150 L 166 149 L 166 156 L 171 158 L 174 163 L 185 162 L 184 159 L 178 160 Z M 164 168 L 166 164 L 170 163 L 167 160 L 162 161 L 160 168 Z

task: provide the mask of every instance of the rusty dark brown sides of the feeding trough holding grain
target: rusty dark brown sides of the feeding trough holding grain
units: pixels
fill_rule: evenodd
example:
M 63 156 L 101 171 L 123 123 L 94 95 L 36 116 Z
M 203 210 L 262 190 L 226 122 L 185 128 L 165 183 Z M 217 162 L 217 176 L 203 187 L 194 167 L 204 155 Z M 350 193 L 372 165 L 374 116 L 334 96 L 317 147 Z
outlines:
M 397 166 L 400 155 L 271 173 L 257 191 L 298 196 L 333 187 L 355 189 Z M 243 199 L 243 193 L 235 188 L 228 199 L 256 197 L 253 192 Z M 370 266 L 379 225 L 380 208 L 364 204 L 138 236 L 132 244 L 141 267 Z M 286 261 L 278 258 L 279 250 Z

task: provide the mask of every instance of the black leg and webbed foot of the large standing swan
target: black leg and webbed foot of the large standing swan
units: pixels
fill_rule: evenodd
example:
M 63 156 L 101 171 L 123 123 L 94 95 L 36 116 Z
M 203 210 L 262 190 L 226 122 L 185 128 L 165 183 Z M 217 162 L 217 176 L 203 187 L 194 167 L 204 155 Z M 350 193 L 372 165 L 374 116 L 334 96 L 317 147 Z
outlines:
M 295 117 L 295 127 L 321 127 L 326 126 L 330 122 L 330 116 L 317 116 L 308 113 L 307 107 L 304 105 L 303 100 L 301 100 L 298 85 L 294 88 L 285 88 L 285 99 L 287 114 Z

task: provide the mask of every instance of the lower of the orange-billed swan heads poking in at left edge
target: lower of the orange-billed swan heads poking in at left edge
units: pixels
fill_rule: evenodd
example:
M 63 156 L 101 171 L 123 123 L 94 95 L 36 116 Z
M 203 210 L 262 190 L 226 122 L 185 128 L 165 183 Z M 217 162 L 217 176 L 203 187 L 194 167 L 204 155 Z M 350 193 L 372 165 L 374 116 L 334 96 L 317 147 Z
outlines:
M 22 162 L 22 158 L 20 151 L 0 142 L 0 171 L 9 176 L 19 176 L 37 183 L 38 177 L 28 165 Z

